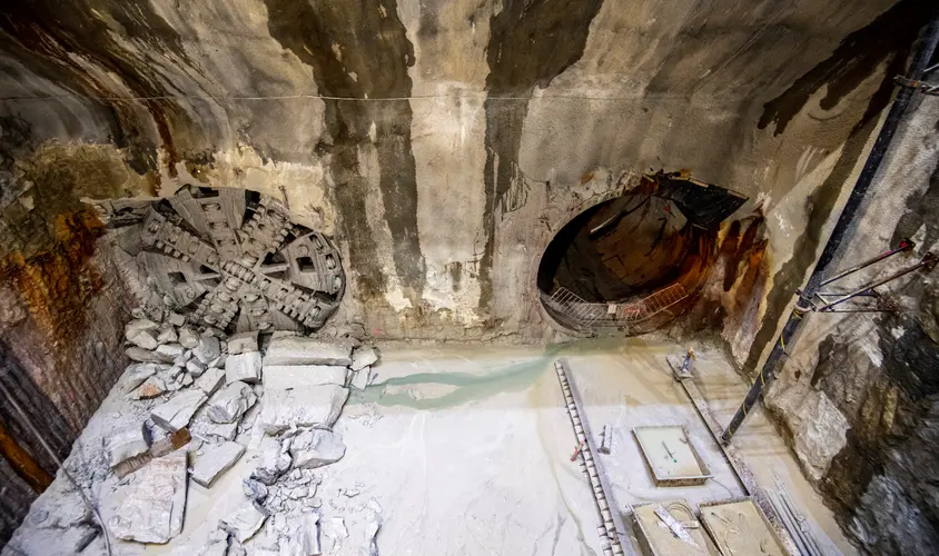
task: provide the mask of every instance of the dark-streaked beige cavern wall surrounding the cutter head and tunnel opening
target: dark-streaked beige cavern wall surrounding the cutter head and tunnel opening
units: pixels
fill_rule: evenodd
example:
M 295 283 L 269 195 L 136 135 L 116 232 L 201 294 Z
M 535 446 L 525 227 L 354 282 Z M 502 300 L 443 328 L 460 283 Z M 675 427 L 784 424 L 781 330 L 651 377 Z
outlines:
M 721 230 L 689 326 L 720 334 L 752 370 L 929 9 L 10 6 L 0 16 L 3 346 L 69 413 L 61 434 L 73 438 L 123 367 L 100 354 L 119 353 L 121 308 L 135 305 L 111 262 L 123 256 L 113 238 L 92 239 L 103 230 L 82 199 L 187 183 L 275 196 L 335 238 L 348 278 L 336 320 L 379 338 L 544 339 L 554 330 L 535 274 L 551 238 L 624 177 L 689 169 L 750 198 Z M 65 377 L 89 383 L 87 410 L 60 405 L 75 390 Z

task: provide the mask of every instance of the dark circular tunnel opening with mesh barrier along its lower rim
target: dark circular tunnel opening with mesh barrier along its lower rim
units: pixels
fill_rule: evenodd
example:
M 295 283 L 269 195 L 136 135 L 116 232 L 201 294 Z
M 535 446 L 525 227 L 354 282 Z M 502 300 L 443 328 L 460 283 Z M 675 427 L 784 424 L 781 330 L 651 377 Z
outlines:
M 745 200 L 679 175 L 643 176 L 552 239 L 537 287 L 547 312 L 580 330 L 654 330 L 688 310 L 706 279 L 720 222 Z

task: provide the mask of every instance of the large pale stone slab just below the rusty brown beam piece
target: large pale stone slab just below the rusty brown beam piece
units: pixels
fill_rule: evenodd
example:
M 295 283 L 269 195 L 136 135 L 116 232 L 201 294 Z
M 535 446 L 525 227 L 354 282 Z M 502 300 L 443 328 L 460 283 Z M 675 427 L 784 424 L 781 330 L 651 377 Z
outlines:
M 125 540 L 159 544 L 179 535 L 186 510 L 186 450 L 154 459 L 126 480 L 115 493 L 121 502 L 108 522 L 109 532 Z

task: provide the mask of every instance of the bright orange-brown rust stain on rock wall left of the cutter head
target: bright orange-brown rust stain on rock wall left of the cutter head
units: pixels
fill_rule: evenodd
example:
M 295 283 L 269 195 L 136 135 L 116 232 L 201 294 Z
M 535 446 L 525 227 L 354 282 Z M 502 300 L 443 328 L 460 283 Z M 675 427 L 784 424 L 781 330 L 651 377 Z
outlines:
M 13 252 L 0 262 L 0 279 L 19 291 L 50 340 L 69 341 L 83 330 L 88 305 L 103 286 L 101 275 L 89 264 L 103 231 L 90 210 L 61 214 L 56 217 L 49 249 L 28 258 Z

